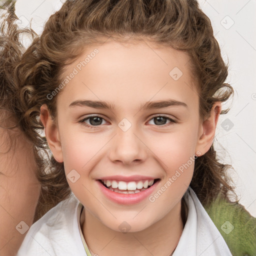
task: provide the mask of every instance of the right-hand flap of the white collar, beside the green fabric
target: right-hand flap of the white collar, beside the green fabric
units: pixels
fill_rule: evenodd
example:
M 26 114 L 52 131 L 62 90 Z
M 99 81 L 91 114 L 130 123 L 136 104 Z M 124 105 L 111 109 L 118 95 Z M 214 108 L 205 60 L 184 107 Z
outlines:
M 188 205 L 187 220 L 172 256 L 232 256 L 224 238 L 191 187 L 184 198 Z

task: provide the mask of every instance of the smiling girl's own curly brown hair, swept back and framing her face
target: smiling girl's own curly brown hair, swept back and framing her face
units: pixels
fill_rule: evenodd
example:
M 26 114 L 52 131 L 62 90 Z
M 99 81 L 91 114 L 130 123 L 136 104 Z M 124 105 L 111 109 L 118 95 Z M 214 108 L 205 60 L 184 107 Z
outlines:
M 12 74 L 19 85 L 15 111 L 38 155 L 41 149 L 47 149 L 45 137 L 38 133 L 43 129 L 38 120 L 40 106 L 46 104 L 53 119 L 57 115 L 57 96 L 49 99 L 46 95 L 61 82 L 64 67 L 86 46 L 108 37 L 119 42 L 146 39 L 186 51 L 198 85 L 202 119 L 207 118 L 215 102 L 232 96 L 232 87 L 225 83 L 228 68 L 211 22 L 196 0 L 66 0 L 49 17 L 42 34 L 22 54 Z M 190 186 L 204 206 L 219 193 L 226 199 L 229 192 L 234 193 L 227 175 L 230 167 L 218 161 L 213 145 L 195 160 Z M 35 219 L 71 192 L 63 163 L 52 155 L 37 174 L 42 186 Z

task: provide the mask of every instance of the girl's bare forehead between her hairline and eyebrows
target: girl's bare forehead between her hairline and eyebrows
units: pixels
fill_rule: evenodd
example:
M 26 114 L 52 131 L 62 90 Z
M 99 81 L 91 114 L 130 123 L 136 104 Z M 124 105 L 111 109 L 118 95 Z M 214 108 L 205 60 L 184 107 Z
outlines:
M 61 97 L 66 102 L 89 97 L 114 102 L 118 107 L 135 102 L 174 98 L 196 103 L 196 86 L 191 77 L 187 52 L 145 40 L 108 40 L 85 48 L 64 70 L 75 72 Z

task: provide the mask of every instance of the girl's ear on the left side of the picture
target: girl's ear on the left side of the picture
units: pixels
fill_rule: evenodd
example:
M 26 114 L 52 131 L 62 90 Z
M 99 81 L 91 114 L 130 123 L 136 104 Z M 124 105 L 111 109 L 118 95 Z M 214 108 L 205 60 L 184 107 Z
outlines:
M 57 124 L 51 118 L 48 107 L 45 104 L 40 108 L 40 120 L 44 126 L 45 137 L 55 160 L 63 162 L 63 153 Z

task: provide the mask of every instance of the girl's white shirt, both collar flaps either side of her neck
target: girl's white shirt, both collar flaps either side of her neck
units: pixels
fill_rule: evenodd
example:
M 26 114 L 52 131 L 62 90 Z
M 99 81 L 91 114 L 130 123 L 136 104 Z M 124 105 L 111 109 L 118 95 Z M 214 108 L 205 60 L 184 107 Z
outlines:
M 188 188 L 184 199 L 187 220 L 172 256 L 232 256 L 192 188 Z M 58 203 L 32 224 L 17 256 L 91 256 L 80 235 L 81 210 L 74 195 Z

